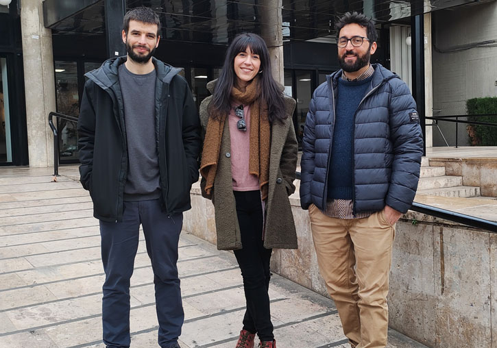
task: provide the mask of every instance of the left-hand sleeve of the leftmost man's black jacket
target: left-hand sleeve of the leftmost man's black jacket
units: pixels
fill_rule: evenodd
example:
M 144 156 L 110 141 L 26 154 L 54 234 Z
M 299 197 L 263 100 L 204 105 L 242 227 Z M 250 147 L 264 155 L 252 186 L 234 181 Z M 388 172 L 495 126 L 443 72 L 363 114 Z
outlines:
M 90 190 L 90 177 L 93 170 L 93 146 L 95 145 L 95 109 L 92 102 L 92 87 L 88 80 L 84 86 L 80 117 L 77 120 L 77 148 L 80 156 L 80 182 L 85 190 Z

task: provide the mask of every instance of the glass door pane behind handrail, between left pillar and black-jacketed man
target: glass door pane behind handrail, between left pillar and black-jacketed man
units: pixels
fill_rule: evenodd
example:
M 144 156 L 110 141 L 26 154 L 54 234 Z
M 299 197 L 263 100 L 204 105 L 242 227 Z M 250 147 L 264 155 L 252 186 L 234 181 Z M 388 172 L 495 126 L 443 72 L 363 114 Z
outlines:
M 80 116 L 77 63 L 56 61 L 57 112 Z M 76 123 L 57 119 L 60 160 L 77 160 Z

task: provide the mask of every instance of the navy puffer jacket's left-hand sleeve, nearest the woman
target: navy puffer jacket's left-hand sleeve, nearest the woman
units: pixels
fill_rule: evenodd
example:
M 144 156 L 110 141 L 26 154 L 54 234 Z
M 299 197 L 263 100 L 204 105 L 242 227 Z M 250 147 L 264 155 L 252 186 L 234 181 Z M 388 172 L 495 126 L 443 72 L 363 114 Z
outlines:
M 311 182 L 313 181 L 315 169 L 315 97 L 316 92 L 314 92 L 313 99 L 311 99 L 311 103 L 309 103 L 309 111 L 306 116 L 306 125 L 304 127 L 304 136 L 302 138 L 302 158 L 300 160 L 300 206 L 302 206 L 302 209 L 304 210 L 308 209 L 311 205 Z

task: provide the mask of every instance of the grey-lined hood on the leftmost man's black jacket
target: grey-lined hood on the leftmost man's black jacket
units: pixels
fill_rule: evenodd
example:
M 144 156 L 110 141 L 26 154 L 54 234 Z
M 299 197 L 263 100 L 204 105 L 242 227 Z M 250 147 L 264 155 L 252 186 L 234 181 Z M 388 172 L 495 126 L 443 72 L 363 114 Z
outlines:
M 119 66 L 126 62 L 126 60 L 128 60 L 126 55 L 118 58 L 110 58 L 106 60 L 104 64 L 101 64 L 98 69 L 86 73 L 85 76 L 101 88 L 110 88 L 119 82 L 117 71 Z M 165 64 L 154 57 L 152 57 L 152 62 L 156 67 L 157 78 L 165 84 L 169 84 L 171 79 L 173 79 L 173 77 L 178 75 L 181 71 L 181 69 L 174 68 L 173 66 Z

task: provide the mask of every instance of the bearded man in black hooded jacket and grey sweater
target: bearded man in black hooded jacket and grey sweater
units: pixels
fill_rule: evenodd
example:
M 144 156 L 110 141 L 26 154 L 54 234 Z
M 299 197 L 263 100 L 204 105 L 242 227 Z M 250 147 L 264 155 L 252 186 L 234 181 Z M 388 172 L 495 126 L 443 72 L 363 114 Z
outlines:
M 180 69 L 152 57 L 159 33 L 150 8 L 125 14 L 128 54 L 86 74 L 77 125 L 81 183 L 100 221 L 107 347 L 130 347 L 130 278 L 140 225 L 154 270 L 158 343 L 180 347 L 184 312 L 176 262 L 182 212 L 191 208 L 199 175 L 200 123 Z

